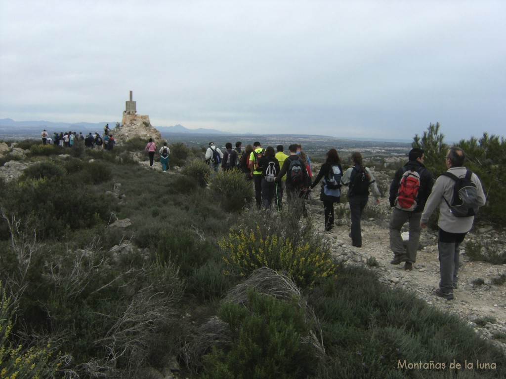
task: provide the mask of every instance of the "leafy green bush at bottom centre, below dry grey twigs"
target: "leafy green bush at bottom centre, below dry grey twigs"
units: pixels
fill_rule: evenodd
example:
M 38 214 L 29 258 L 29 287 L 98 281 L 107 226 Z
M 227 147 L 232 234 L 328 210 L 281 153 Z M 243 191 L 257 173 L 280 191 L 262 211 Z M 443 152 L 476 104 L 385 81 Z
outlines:
M 232 334 L 229 349 L 204 357 L 205 379 L 282 379 L 314 374 L 317 354 L 305 342 L 311 326 L 297 300 L 247 294 L 248 306 L 224 303 L 220 318 Z

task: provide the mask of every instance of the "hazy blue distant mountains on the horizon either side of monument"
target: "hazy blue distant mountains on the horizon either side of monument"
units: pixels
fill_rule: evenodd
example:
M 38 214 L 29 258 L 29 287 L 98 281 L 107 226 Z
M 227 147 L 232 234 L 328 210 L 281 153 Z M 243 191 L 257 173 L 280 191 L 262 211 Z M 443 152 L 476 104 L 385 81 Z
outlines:
M 104 129 L 105 124 L 109 124 L 109 127 L 114 128 L 117 121 L 109 121 L 109 122 L 51 122 L 51 121 L 14 121 L 11 118 L 3 118 L 0 119 L 0 131 L 9 132 L 11 134 L 19 134 L 19 133 L 27 133 L 33 131 L 42 131 L 47 129 L 49 132 L 55 131 L 82 131 L 82 132 L 94 132 L 94 131 L 102 131 Z M 15 129 L 13 129 L 15 128 Z M 229 132 L 224 132 L 216 129 L 188 129 L 182 125 L 174 125 L 174 126 L 155 126 L 156 129 L 160 131 L 160 133 L 189 133 L 189 134 L 232 134 Z M 39 130 L 40 129 L 40 130 Z

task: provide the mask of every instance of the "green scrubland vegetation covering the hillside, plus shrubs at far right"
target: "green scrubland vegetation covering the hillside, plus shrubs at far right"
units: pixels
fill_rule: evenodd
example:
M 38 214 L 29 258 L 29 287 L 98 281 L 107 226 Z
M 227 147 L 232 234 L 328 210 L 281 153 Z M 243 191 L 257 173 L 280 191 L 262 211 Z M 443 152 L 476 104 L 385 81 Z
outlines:
M 444 170 L 439 125 L 414 144 Z M 141 140 L 20 145 L 33 164 L 0 181 L 0 378 L 138 378 L 167 356 L 193 378 L 506 376 L 471 326 L 334 260 L 297 210 L 252 209 L 250 183 L 198 150 L 170 146 L 183 168 L 163 175 L 133 159 Z M 504 140 L 460 146 L 493 202 L 480 217 L 503 222 Z M 494 366 L 450 367 L 465 361 Z

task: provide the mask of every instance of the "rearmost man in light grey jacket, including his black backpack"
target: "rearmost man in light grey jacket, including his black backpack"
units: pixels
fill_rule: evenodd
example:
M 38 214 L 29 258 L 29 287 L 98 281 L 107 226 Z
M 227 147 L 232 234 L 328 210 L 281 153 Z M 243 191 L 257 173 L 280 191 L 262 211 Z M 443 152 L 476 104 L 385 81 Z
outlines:
M 458 147 L 451 147 L 446 153 L 446 167 L 434 183 L 432 192 L 421 215 L 420 225 L 426 227 L 432 212 L 439 207 L 439 268 L 441 280 L 436 295 L 447 300 L 453 299 L 457 288 L 459 246 L 473 227 L 474 215 L 485 205 L 485 193 L 478 176 L 466 169 L 466 154 Z M 455 194 L 465 184 L 466 194 Z M 473 195 L 467 198 L 464 195 Z

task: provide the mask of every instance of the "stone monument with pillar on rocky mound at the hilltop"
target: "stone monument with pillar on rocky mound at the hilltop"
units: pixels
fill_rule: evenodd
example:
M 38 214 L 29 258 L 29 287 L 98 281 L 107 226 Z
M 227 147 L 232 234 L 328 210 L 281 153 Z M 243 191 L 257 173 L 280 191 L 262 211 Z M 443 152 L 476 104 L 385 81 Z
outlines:
M 160 132 L 151 125 L 149 116 L 137 114 L 137 102 L 133 101 L 133 91 L 130 91 L 130 100 L 125 102 L 121 126 L 112 130 L 111 134 L 119 143 L 133 137 L 140 137 L 146 142 L 149 138 L 153 138 L 156 145 L 161 145 L 162 141 Z

